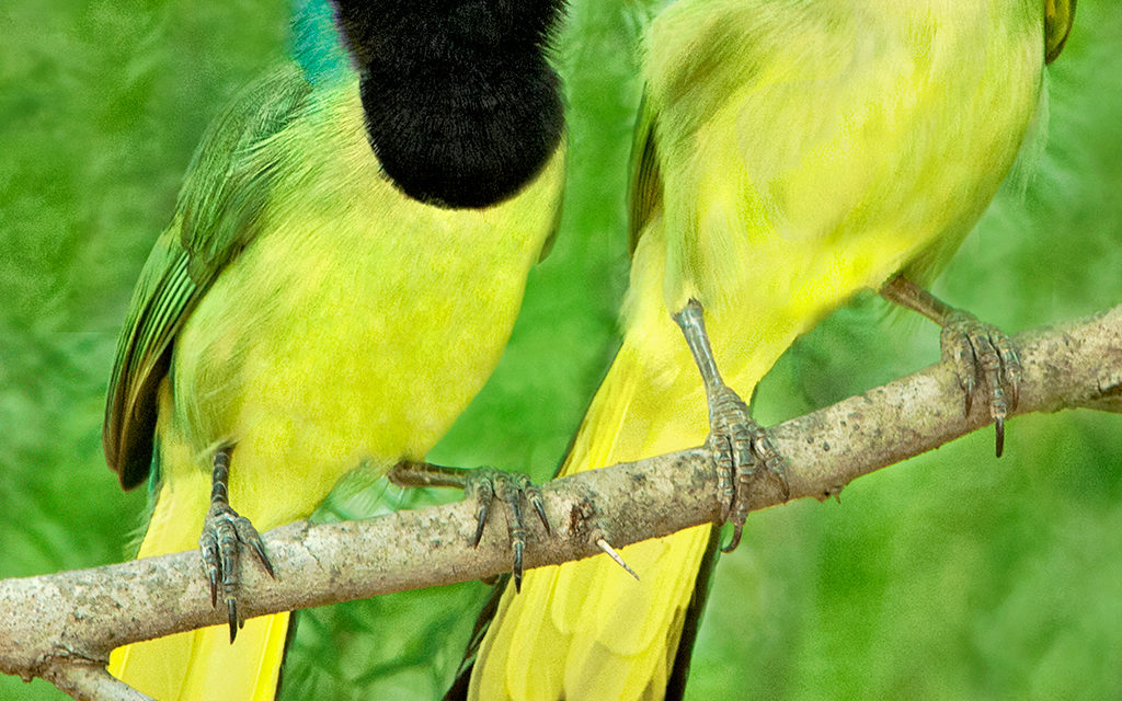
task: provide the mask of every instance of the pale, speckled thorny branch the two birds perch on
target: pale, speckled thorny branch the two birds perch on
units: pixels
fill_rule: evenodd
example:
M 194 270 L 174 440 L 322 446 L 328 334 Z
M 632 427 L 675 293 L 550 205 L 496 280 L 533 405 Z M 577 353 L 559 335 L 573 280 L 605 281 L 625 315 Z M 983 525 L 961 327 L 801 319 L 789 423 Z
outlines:
M 1085 407 L 1122 412 L 1122 305 L 1015 336 L 1024 375 L 1017 414 Z M 788 459 L 792 499 L 826 498 L 862 474 L 937 448 L 988 423 L 984 402 L 964 416 L 954 371 L 931 366 L 772 430 Z M 1015 431 L 1015 428 L 1014 428 Z M 527 566 L 594 555 L 710 523 L 719 515 L 708 453 L 692 450 L 554 480 L 542 488 L 555 537 L 530 523 Z M 782 501 L 763 489 L 752 508 Z M 475 505 L 457 502 L 362 522 L 277 528 L 265 536 L 277 579 L 251 559 L 247 617 L 490 577 L 511 566 L 506 528 L 470 543 Z M 629 577 L 620 571 L 620 577 Z M 642 577 L 642 572 L 638 573 Z M 100 668 L 117 646 L 208 625 L 197 552 L 0 581 L 0 671 L 43 676 L 75 698 L 137 700 Z

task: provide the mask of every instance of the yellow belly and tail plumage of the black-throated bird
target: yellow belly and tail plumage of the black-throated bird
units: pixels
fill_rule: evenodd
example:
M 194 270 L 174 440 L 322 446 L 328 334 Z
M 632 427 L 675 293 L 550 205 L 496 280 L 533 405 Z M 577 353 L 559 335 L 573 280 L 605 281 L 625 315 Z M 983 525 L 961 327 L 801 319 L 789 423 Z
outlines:
M 361 120 L 346 81 L 254 145 L 273 186 L 259 233 L 175 340 L 140 556 L 196 547 L 217 448 L 233 446 L 230 502 L 264 533 L 359 464 L 423 458 L 498 362 L 555 223 L 564 149 L 515 197 L 444 210 L 390 185 Z M 286 624 L 249 620 L 232 646 L 224 627 L 130 645 L 110 671 L 160 701 L 272 699 Z

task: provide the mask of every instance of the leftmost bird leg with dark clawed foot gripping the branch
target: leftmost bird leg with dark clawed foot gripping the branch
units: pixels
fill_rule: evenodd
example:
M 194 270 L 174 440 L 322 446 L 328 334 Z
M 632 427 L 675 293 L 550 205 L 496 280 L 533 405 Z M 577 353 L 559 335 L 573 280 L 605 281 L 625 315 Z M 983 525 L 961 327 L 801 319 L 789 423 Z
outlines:
M 218 608 L 218 590 L 222 588 L 227 614 L 230 621 L 230 642 L 238 635 L 238 629 L 245 625 L 238 616 L 238 562 L 241 547 L 252 548 L 261 566 L 276 577 L 273 563 L 265 554 L 265 544 L 257 528 L 245 516 L 238 515 L 230 507 L 230 453 L 232 449 L 223 448 L 214 453 L 214 469 L 211 473 L 211 507 L 203 522 L 203 533 L 199 537 L 199 547 L 203 552 L 203 564 L 211 588 L 211 606 Z

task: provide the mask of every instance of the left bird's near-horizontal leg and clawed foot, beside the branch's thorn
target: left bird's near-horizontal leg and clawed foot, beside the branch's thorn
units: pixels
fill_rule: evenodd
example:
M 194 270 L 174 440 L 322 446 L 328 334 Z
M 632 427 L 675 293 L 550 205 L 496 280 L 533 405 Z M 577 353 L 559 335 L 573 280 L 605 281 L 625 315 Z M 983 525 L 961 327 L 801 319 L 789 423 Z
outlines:
M 522 504 L 525 500 L 534 508 L 537 518 L 545 527 L 545 533 L 552 534 L 550 520 L 545 516 L 545 504 L 542 491 L 530 478 L 521 472 L 506 472 L 495 468 L 445 468 L 427 462 L 403 461 L 397 463 L 387 474 L 389 481 L 398 487 L 453 487 L 462 489 L 465 498 L 476 500 L 476 534 L 472 546 L 478 546 L 484 535 L 484 525 L 491 513 L 495 500 L 502 501 L 507 509 L 507 534 L 511 538 L 511 551 L 514 554 L 514 588 L 522 589 L 522 553 L 526 550 L 526 522 L 523 517 Z

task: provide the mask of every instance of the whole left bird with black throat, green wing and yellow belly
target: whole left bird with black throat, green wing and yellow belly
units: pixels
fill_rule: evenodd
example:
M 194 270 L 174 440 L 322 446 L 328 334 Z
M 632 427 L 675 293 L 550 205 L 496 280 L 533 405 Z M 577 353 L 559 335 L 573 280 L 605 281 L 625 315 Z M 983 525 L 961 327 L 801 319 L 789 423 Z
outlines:
M 138 556 L 201 545 L 230 628 L 118 648 L 125 682 L 272 699 L 289 617 L 239 619 L 239 550 L 272 573 L 258 531 L 352 468 L 422 459 L 490 375 L 558 218 L 560 4 L 300 2 L 298 61 L 204 137 L 129 308 L 104 448 L 126 488 L 153 472 Z

